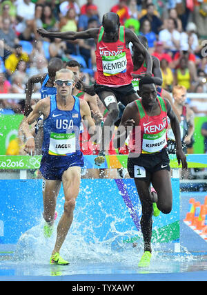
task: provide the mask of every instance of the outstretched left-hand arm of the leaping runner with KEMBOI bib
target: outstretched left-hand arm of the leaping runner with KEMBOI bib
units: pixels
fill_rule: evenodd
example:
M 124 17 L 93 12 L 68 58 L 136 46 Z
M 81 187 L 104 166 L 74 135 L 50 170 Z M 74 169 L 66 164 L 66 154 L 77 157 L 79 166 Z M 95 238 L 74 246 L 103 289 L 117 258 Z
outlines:
M 54 37 L 59 39 L 65 39 L 65 40 L 76 40 L 76 39 L 89 39 L 89 38 L 97 38 L 97 35 L 99 33 L 99 28 L 91 28 L 88 30 L 84 30 L 81 32 L 74 32 L 74 31 L 68 31 L 68 32 L 48 32 L 47 30 L 43 28 L 38 28 L 37 32 L 41 37 Z

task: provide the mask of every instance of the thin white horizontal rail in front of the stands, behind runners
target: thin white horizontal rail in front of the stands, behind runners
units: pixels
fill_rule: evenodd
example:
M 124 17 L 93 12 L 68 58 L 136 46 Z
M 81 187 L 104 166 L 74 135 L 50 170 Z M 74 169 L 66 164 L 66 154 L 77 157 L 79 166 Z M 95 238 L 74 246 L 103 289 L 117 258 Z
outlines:
M 171 94 L 172 95 L 172 94 Z M 187 93 L 187 97 L 192 99 L 207 99 L 207 93 Z M 32 99 L 40 99 L 40 93 L 33 93 Z M 0 99 L 26 99 L 26 94 L 20 93 L 0 93 Z

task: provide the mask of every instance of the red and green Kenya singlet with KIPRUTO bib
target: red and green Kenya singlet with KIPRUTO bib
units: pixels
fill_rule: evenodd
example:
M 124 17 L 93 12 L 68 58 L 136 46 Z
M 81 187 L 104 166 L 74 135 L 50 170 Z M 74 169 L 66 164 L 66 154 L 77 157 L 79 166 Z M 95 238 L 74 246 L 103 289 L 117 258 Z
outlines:
M 157 100 L 161 113 L 155 116 L 148 116 L 141 104 L 141 99 L 136 100 L 139 112 L 139 126 L 141 127 L 141 138 L 139 137 L 141 140 L 141 153 L 157 153 L 167 146 L 166 129 L 168 128 L 168 120 L 166 103 L 159 96 L 157 96 Z M 132 146 L 135 146 L 135 130 L 134 128 L 132 131 Z

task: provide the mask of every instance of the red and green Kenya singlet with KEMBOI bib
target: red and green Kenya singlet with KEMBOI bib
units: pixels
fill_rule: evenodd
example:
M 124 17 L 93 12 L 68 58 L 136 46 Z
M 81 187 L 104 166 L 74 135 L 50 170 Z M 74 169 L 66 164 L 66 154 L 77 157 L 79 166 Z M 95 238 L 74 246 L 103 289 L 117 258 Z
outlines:
M 124 86 L 131 84 L 133 63 L 130 49 L 126 47 L 125 28 L 119 27 L 117 42 L 103 41 L 104 29 L 99 30 L 96 59 L 97 84 L 106 86 Z

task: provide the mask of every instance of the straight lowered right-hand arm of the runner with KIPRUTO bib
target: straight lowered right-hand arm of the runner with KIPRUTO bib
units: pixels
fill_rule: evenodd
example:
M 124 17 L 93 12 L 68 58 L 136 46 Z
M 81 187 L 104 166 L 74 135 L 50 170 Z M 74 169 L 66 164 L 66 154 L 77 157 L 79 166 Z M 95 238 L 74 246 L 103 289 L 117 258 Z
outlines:
M 180 133 L 180 127 L 179 127 L 179 121 L 177 119 L 177 115 L 175 115 L 174 111 L 172 110 L 170 102 L 167 99 L 164 99 L 164 100 L 166 102 L 167 114 L 170 119 L 170 125 L 172 128 L 172 132 L 175 136 L 177 162 L 179 165 L 180 165 L 180 163 L 182 164 L 183 169 L 188 169 L 186 155 L 184 154 L 183 149 L 182 149 L 181 133 Z

